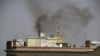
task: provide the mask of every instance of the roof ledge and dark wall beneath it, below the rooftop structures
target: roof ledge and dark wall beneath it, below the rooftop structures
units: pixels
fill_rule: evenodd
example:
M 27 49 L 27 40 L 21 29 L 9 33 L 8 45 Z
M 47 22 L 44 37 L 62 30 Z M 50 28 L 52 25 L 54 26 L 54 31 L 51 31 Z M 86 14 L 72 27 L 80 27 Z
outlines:
M 93 49 L 86 48 L 29 48 L 17 47 L 15 49 L 6 50 L 7 56 L 88 56 Z

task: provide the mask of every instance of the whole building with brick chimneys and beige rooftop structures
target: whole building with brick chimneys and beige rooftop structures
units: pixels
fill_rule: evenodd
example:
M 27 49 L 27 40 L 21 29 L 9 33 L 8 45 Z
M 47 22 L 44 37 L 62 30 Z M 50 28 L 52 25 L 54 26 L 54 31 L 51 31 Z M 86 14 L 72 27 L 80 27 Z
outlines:
M 64 35 L 50 37 L 28 37 L 7 41 L 6 56 L 89 56 L 95 49 L 87 40 L 85 47 L 75 47 L 65 43 Z

